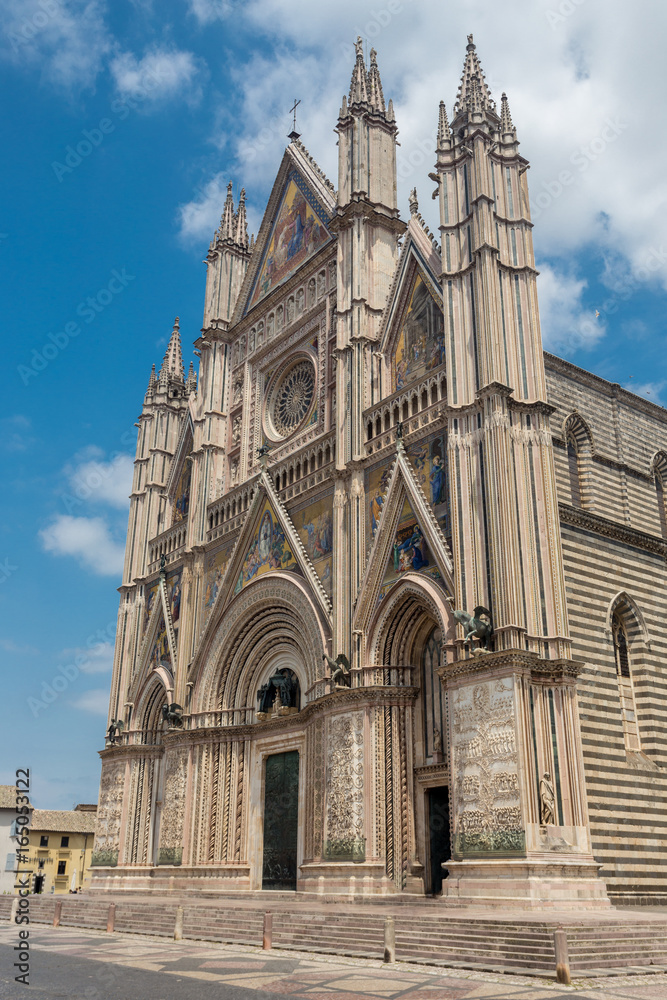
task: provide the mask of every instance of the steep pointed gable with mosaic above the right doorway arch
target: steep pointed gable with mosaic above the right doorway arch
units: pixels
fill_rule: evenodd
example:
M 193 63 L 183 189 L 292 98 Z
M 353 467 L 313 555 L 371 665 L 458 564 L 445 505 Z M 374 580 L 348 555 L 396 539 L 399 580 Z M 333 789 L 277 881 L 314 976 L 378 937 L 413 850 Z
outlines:
M 354 615 L 354 627 L 361 630 L 405 573 L 424 574 L 445 593 L 454 592 L 449 546 L 402 442 L 384 483 L 386 493 L 372 521 L 375 532 Z

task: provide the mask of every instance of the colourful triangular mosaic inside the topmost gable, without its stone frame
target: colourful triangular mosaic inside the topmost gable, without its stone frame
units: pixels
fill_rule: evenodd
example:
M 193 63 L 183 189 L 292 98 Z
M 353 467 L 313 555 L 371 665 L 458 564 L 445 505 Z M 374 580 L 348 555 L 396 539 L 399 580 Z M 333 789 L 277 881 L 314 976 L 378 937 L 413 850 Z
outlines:
M 300 174 L 289 175 L 276 221 L 259 273 L 248 301 L 248 309 L 286 281 L 309 257 L 331 238 L 327 213 Z

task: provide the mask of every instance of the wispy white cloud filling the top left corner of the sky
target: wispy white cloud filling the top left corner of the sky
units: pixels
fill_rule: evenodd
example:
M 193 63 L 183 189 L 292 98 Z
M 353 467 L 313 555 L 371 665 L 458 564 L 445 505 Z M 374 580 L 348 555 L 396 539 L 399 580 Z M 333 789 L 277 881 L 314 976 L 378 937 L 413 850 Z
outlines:
M 66 89 L 94 86 L 112 44 L 102 0 L 0 0 L 0 12 L 0 58 Z

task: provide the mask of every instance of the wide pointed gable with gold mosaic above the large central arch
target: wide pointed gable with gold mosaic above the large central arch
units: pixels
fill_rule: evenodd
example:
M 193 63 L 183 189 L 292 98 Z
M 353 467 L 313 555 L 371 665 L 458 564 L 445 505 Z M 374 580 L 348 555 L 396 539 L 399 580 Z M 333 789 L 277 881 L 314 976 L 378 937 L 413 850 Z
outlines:
M 236 594 L 265 574 L 276 572 L 305 578 L 325 620 L 331 623 L 332 604 L 322 580 L 271 477 L 262 471 L 233 550 L 226 553 L 224 566 L 212 563 L 204 581 L 208 617 L 201 642 L 206 641 Z M 211 580 L 216 580 L 215 594 L 209 592 Z

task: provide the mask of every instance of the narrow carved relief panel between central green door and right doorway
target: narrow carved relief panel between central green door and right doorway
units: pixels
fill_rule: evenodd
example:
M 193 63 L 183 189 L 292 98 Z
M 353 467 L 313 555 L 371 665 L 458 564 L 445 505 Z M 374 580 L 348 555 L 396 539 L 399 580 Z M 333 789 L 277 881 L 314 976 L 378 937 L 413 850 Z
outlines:
M 364 715 L 327 720 L 326 841 L 332 861 L 362 861 L 364 839 Z

